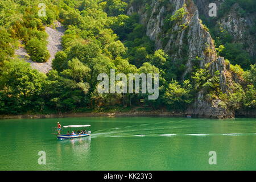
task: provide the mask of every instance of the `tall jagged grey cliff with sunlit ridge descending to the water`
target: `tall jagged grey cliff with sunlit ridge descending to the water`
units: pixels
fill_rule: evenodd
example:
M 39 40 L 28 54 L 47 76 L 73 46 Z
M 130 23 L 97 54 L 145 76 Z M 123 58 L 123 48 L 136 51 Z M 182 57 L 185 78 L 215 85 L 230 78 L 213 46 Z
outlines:
M 224 93 L 232 92 L 236 74 L 230 72 L 229 64 L 224 57 L 219 57 L 214 47 L 213 39 L 207 27 L 199 18 L 199 9 L 207 1 L 197 5 L 191 0 L 147 1 L 146 4 L 133 6 L 131 4 L 127 14 L 138 13 L 141 23 L 147 27 L 146 34 L 155 41 L 156 49 L 164 49 L 174 61 L 185 61 L 183 78 L 189 76 L 193 70 L 192 61 L 199 60 L 199 67 L 209 65 L 210 74 L 220 72 L 220 89 Z M 170 20 L 170 17 L 176 17 Z M 222 21 L 222 20 L 220 20 Z M 168 22 L 168 23 L 167 23 Z M 239 81 L 239 79 L 238 79 Z M 195 103 L 186 111 L 187 114 L 207 118 L 233 118 L 234 110 L 226 109 L 219 99 L 205 100 L 204 90 L 197 93 Z

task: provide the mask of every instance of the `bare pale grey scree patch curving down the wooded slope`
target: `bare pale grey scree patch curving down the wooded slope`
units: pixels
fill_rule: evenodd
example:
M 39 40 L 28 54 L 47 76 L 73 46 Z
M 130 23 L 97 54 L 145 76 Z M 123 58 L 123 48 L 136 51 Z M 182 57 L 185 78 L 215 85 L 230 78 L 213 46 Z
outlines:
M 46 27 L 46 32 L 49 35 L 47 39 L 47 49 L 51 55 L 46 63 L 36 63 L 31 61 L 30 56 L 27 54 L 27 51 L 24 49 L 24 47 L 19 47 L 19 49 L 15 50 L 15 55 L 17 55 L 20 59 L 30 63 L 32 68 L 37 69 L 43 73 L 48 73 L 52 69 L 52 60 L 54 59 L 55 54 L 62 49 L 61 38 L 64 35 L 65 28 L 60 22 L 55 22 L 54 24 L 55 29 Z

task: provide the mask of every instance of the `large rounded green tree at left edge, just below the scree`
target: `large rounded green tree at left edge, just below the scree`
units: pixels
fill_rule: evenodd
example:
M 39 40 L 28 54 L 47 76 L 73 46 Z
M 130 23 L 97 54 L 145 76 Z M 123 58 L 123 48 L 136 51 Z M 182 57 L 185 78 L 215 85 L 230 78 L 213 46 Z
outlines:
M 0 67 L 0 92 L 6 112 L 23 113 L 42 109 L 40 93 L 45 79 L 43 73 L 31 69 L 30 64 L 24 61 L 4 61 Z

